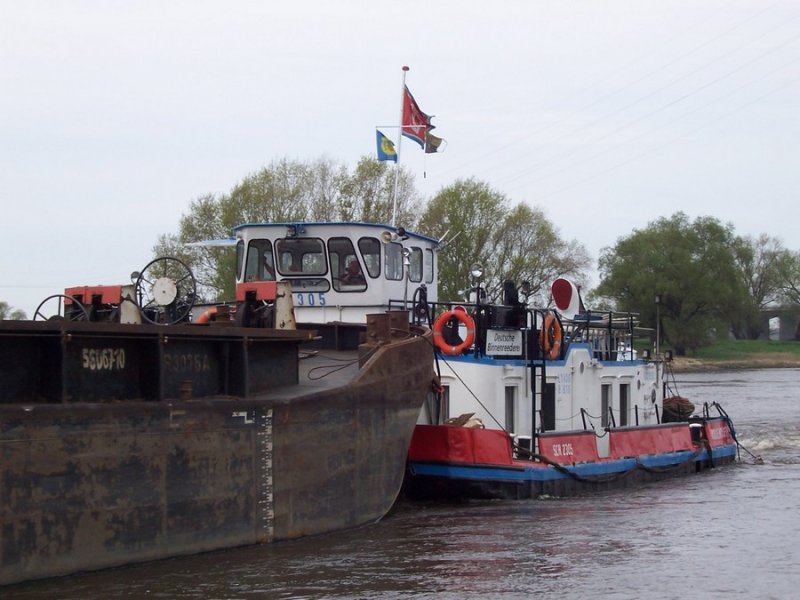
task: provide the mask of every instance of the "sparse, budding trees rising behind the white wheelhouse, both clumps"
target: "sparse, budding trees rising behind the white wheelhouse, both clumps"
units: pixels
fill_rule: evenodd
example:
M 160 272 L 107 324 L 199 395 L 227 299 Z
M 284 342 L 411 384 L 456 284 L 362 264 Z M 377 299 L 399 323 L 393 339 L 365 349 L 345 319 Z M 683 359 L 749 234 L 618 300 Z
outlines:
M 570 276 L 584 282 L 590 257 L 579 242 L 564 240 L 544 213 L 526 204 L 512 205 L 503 194 L 475 179 L 443 188 L 427 203 L 402 166 L 362 158 L 349 171 L 329 160 L 313 163 L 281 160 L 250 174 L 227 194 L 191 202 L 177 233 L 163 234 L 157 256 L 171 255 L 189 264 L 207 301 L 233 297 L 235 256 L 229 248 L 190 245 L 227 238 L 243 223 L 292 221 L 364 221 L 395 223 L 409 231 L 442 239 L 439 297 L 462 298 L 469 288 L 470 266 L 485 269 L 482 285 L 499 294 L 505 279 L 527 281 L 531 294 L 547 301 L 549 282 Z

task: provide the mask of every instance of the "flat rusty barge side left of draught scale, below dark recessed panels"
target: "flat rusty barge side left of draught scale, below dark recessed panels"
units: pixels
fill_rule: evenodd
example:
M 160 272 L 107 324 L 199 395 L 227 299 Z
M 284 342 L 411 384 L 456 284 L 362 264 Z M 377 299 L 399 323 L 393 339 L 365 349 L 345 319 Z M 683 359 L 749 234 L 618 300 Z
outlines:
M 234 411 L 0 409 L 0 582 L 254 540 L 253 433 Z

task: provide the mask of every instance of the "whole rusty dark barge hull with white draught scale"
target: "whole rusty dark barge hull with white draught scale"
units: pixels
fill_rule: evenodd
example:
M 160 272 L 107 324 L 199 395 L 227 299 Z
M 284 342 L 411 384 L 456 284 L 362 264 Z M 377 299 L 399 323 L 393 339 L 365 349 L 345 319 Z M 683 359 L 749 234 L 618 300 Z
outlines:
M 308 337 L 2 323 L 0 584 L 384 516 L 429 387 L 430 341 L 362 347 L 360 370 L 298 383 Z

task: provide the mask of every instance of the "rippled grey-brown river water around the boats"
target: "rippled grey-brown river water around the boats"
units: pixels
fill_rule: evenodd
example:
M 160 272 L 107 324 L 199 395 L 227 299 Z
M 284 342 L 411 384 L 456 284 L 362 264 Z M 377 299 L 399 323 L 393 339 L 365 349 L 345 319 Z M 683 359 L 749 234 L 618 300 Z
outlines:
M 11 586 L 0 598 L 800 598 L 800 369 L 678 374 L 736 465 L 582 498 L 401 506 L 354 531 Z

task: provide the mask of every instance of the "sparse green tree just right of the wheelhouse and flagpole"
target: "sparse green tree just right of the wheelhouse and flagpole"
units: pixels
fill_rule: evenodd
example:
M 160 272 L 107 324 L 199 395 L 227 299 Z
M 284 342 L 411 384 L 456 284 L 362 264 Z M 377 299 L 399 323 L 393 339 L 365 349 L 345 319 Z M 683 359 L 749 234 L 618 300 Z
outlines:
M 545 297 L 550 282 L 570 275 L 582 280 L 588 254 L 577 242 L 561 239 L 542 211 L 508 199 L 475 179 L 457 180 L 428 204 L 420 231 L 445 237 L 439 253 L 439 298 L 458 300 L 468 289 L 470 266 L 484 267 L 483 285 L 501 300 L 506 279 L 528 281 L 532 295 Z

